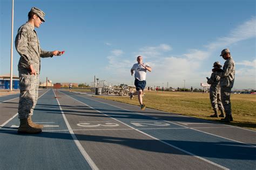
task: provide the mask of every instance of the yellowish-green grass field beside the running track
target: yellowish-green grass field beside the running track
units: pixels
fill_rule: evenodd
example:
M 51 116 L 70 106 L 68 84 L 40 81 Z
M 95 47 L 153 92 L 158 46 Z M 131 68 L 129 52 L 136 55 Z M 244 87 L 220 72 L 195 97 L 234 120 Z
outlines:
M 210 117 L 213 114 L 213 110 L 208 93 L 177 93 L 177 91 L 145 91 L 144 93 L 143 103 L 146 104 L 147 108 L 210 121 L 219 121 L 220 119 Z M 97 97 L 139 105 L 137 96 L 134 96 L 133 100 L 130 100 L 128 96 Z M 227 124 L 256 130 L 256 95 L 232 94 L 231 104 L 234 121 Z

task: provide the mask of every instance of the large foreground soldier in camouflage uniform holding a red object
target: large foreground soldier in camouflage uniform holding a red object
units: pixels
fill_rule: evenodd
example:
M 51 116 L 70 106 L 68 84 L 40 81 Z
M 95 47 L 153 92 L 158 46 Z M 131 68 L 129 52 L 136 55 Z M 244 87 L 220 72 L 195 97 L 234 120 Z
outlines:
M 29 20 L 18 29 L 15 39 L 15 47 L 21 58 L 18 63 L 19 71 L 19 106 L 18 114 L 20 125 L 19 133 L 40 133 L 43 125 L 32 122 L 31 116 L 36 106 L 38 98 L 40 59 L 61 55 L 60 51 L 43 51 L 35 27 L 45 22 L 45 13 L 38 8 L 31 8 L 28 17 Z

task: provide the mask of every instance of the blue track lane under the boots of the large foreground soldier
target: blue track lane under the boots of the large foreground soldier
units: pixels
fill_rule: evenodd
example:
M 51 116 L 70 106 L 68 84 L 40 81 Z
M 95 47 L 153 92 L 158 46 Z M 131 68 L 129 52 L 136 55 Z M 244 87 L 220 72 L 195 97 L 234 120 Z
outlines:
M 39 98 L 33 120 L 59 125 L 44 130 L 66 130 L 52 91 Z M 19 125 L 18 117 L 5 127 Z M 69 131 L 17 134 L 17 129 L 0 129 L 0 169 L 91 169 Z M 19 168 L 17 168 L 19 167 Z

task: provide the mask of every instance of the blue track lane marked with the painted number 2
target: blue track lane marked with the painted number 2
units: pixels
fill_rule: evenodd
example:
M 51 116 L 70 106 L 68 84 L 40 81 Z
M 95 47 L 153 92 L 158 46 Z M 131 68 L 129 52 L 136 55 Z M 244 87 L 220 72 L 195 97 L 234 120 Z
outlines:
M 136 112 L 127 112 L 126 110 L 109 104 L 99 103 L 86 97 L 80 97 L 66 92 L 63 93 L 133 128 L 138 129 L 138 126 L 134 126 L 132 123 L 137 121 L 157 121 L 159 124 L 168 123 L 164 120 L 160 121 L 159 119 L 140 115 Z M 254 146 L 241 144 L 192 129 L 160 129 L 160 127 L 184 128 L 183 126 L 172 123 L 169 123 L 170 126 L 159 126 L 159 129 L 155 123 L 150 124 L 152 125 L 140 126 L 143 128 L 140 131 L 230 169 L 256 168 L 256 148 Z M 152 128 L 154 129 L 152 130 Z

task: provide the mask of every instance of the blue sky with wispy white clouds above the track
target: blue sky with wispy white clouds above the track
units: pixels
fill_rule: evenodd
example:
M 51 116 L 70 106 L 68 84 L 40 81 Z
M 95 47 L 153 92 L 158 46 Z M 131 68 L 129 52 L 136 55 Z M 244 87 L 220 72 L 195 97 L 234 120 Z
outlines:
M 0 0 L 0 75 L 10 73 L 11 0 Z M 233 89 L 256 89 L 254 0 L 15 0 L 14 39 L 36 6 L 46 13 L 36 28 L 41 48 L 65 50 L 41 58 L 40 81 L 133 84 L 138 55 L 152 67 L 147 86 L 201 88 L 229 48 Z M 19 55 L 14 47 L 14 75 Z M 185 80 L 185 81 L 184 81 Z

